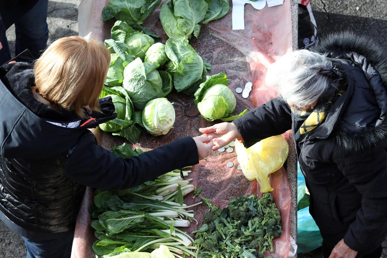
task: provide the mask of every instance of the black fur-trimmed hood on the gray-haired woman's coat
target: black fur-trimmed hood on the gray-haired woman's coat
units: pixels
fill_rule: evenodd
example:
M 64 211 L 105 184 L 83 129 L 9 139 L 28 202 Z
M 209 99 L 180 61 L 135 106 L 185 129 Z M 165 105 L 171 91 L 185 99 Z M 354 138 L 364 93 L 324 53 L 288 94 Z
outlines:
M 352 32 L 330 34 L 313 51 L 338 58 L 349 67 L 352 96 L 332 136 L 344 151 L 359 152 L 385 146 L 387 139 L 387 55 L 366 36 Z

